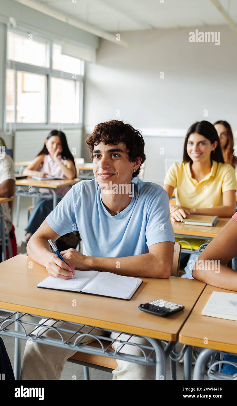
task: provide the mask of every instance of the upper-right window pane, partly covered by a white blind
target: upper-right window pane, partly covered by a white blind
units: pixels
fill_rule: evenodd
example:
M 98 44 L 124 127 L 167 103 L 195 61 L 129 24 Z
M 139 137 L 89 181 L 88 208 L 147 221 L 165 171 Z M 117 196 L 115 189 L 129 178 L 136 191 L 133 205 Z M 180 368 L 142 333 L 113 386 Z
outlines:
M 74 73 L 76 75 L 81 74 L 81 60 L 73 58 L 72 56 L 63 55 L 62 47 L 58 44 L 53 44 L 52 67 L 56 71 Z

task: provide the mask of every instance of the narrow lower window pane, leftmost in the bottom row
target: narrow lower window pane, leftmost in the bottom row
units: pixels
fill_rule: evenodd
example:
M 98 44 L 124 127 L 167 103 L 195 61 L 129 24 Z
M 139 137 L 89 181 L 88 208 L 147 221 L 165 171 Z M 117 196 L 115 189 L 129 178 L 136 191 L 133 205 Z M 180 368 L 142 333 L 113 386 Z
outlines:
M 15 71 L 6 69 L 6 123 L 15 123 Z

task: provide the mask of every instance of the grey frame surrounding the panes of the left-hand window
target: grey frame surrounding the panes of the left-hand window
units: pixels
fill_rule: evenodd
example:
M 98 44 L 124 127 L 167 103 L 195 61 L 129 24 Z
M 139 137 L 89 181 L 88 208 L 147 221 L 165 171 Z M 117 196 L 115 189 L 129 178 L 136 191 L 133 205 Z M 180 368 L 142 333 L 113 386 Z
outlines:
M 29 33 L 33 34 L 37 40 L 41 40 L 46 42 L 47 46 L 47 61 L 49 62 L 49 67 L 39 67 L 36 65 L 30 65 L 28 63 L 16 62 L 13 60 L 7 59 L 7 33 L 15 32 L 16 34 L 26 36 Z M 62 41 L 60 39 L 52 39 L 48 37 L 44 37 L 37 32 L 29 32 L 29 30 L 15 30 L 13 28 L 8 28 L 5 26 L 5 69 L 4 69 L 4 104 L 3 104 L 3 117 L 4 117 L 4 128 L 13 127 L 15 130 L 54 130 L 55 127 L 62 130 L 65 129 L 82 129 L 83 127 L 83 106 L 84 106 L 84 75 L 75 75 L 73 73 L 67 73 L 63 71 L 58 71 L 52 69 L 52 50 L 53 50 L 53 43 L 58 43 L 61 45 Z M 81 60 L 82 65 L 84 65 L 84 60 Z M 7 123 L 6 122 L 6 69 L 13 69 L 15 71 L 15 122 L 14 123 Z M 16 112 L 16 104 L 17 104 L 17 82 L 16 76 L 17 71 L 28 72 L 28 73 L 36 73 L 46 76 L 46 94 L 45 94 L 45 102 L 46 102 L 46 123 L 16 123 L 17 112 Z M 82 71 L 84 71 L 84 66 L 82 66 Z M 73 78 L 73 76 L 75 77 Z M 50 123 L 50 79 L 54 78 L 61 78 L 67 80 L 73 80 L 75 82 L 80 82 L 79 86 L 79 123 Z

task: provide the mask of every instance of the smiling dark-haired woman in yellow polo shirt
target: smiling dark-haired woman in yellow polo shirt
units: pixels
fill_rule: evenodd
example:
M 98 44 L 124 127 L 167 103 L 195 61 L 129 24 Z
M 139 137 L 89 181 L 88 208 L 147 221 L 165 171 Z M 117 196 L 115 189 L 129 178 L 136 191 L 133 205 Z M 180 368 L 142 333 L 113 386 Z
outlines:
M 177 190 L 176 205 L 170 205 L 172 221 L 182 221 L 188 214 L 231 217 L 235 213 L 235 171 L 224 163 L 218 134 L 209 121 L 194 123 L 188 129 L 183 162 L 174 163 L 164 179 L 169 198 L 174 188 Z M 196 256 L 193 254 L 190 259 L 196 260 Z M 189 264 L 182 276 L 192 278 Z

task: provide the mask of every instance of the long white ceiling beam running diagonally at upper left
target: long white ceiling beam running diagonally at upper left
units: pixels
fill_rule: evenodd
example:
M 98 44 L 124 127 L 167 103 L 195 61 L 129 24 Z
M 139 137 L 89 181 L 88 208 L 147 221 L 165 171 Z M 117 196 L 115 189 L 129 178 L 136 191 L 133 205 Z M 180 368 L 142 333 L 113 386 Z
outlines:
M 65 22 L 71 26 L 74 26 L 76 28 L 80 28 L 81 30 L 84 30 L 86 32 L 90 32 L 91 34 L 97 35 L 97 37 L 106 39 L 107 41 L 116 43 L 117 45 L 123 45 L 125 47 L 128 46 L 128 43 L 125 41 L 117 41 L 116 40 L 116 36 L 111 34 L 110 32 L 101 30 L 100 28 L 90 25 L 90 24 L 86 24 L 80 20 L 74 20 L 73 18 L 69 17 L 69 16 L 65 16 L 64 14 L 51 9 L 48 6 L 43 5 L 42 3 L 39 4 L 35 1 L 32 0 L 14 0 L 17 3 L 21 3 L 24 4 L 24 6 L 28 6 L 31 9 L 37 10 L 41 13 L 44 13 L 46 15 L 49 15 L 50 17 L 56 18 L 62 22 Z

